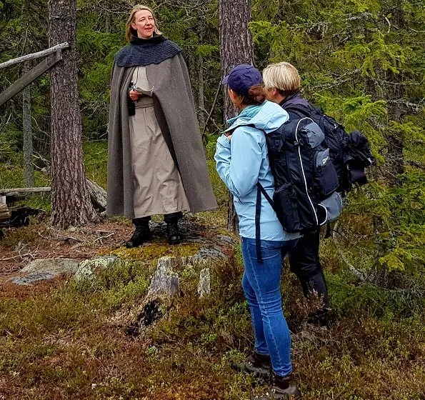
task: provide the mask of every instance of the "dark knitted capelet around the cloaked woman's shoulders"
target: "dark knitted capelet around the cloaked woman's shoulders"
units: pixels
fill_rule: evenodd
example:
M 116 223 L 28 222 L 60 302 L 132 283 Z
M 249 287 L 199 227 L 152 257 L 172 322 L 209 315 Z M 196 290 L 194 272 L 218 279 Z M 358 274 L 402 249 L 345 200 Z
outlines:
M 133 36 L 130 44 L 118 51 L 114 59 L 118 66 L 146 66 L 171 59 L 180 51 L 179 46 L 163 35 L 154 34 L 151 39 L 139 39 Z

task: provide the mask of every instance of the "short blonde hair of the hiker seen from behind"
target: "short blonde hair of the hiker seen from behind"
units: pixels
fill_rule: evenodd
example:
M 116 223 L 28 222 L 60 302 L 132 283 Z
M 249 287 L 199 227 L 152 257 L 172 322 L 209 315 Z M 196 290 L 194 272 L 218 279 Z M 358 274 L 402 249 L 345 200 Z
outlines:
M 294 94 L 301 88 L 301 77 L 297 69 L 287 62 L 266 66 L 263 81 L 265 89 L 278 89 L 284 96 Z

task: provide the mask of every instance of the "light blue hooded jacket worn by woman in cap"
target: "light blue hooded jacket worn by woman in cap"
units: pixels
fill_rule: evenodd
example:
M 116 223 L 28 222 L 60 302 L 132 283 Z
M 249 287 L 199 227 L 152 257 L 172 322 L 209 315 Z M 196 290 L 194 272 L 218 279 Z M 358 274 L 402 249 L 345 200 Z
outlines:
M 286 111 L 271 101 L 247 106 L 239 116 L 227 121 L 231 126 L 224 132 L 233 131 L 231 140 L 224 134 L 217 139 L 216 169 L 234 196 L 239 233 L 243 237 L 255 239 L 256 183 L 259 182 L 271 198 L 274 194 L 264 131 L 275 131 L 288 119 Z M 286 241 L 301 236 L 284 231 L 262 194 L 260 226 L 262 240 Z

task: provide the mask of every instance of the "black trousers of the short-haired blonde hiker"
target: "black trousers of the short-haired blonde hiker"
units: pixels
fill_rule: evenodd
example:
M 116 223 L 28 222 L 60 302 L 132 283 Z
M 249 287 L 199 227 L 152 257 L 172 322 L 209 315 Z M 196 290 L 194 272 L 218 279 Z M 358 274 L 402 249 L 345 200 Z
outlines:
M 328 288 L 319 259 L 320 229 L 298 239 L 289 251 L 289 268 L 298 277 L 304 296 L 316 291 L 323 296 L 324 306 L 329 306 Z

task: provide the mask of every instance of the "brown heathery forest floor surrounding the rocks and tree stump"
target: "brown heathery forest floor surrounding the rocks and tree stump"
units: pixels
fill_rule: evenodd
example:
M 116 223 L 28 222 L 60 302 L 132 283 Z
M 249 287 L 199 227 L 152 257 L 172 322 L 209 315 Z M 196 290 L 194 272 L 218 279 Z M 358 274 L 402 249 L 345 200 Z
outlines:
M 206 224 L 198 228 L 204 236 L 221 233 L 211 219 Z M 245 400 L 267 391 L 264 381 L 231 368 L 253 340 L 238 249 L 214 267 L 213 293 L 206 299 L 196 294 L 199 268 L 183 266 L 178 272 L 184 296 L 162 310 L 161 320 L 131 336 L 119 316 L 146 294 L 155 269 L 146 251 L 185 249 L 170 249 L 159 231 L 154 246 L 126 253 L 121 244 L 131 231 L 129 221 L 120 219 L 76 230 L 52 229 L 46 220 L 34 219 L 30 226 L 5 230 L 0 399 Z M 127 262 L 94 286 L 66 278 L 29 287 L 7 283 L 31 259 L 110 253 L 128 256 Z M 424 399 L 423 314 L 396 311 L 400 304 L 380 298 L 376 289 L 347 284 L 335 259 L 326 244 L 324 264 L 332 265 L 331 299 L 339 310 L 329 329 L 306 324 L 299 285 L 287 269 L 283 276 L 294 376 L 304 399 Z

